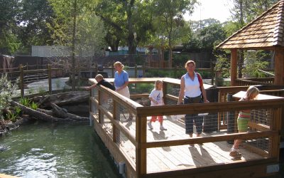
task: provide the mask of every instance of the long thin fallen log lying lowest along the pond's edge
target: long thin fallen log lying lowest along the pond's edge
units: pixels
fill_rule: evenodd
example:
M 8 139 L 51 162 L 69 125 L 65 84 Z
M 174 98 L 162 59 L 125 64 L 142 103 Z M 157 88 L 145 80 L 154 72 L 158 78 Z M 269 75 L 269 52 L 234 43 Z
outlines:
M 52 121 L 52 122 L 67 122 L 67 121 L 77 121 L 77 122 L 87 122 L 89 121 L 89 118 L 87 117 L 80 117 L 77 115 L 72 115 L 71 113 L 69 113 L 70 115 L 66 114 L 66 116 L 70 116 L 70 117 L 54 117 L 53 115 L 49 115 L 50 112 L 42 112 L 42 109 L 38 109 L 38 110 L 33 110 L 31 108 L 28 108 L 24 105 L 21 105 L 20 103 L 17 103 L 16 101 L 11 101 L 11 105 L 13 106 L 18 106 L 19 108 L 21 108 L 21 110 L 27 114 L 30 115 L 31 117 L 35 117 L 38 120 L 45 120 L 45 121 Z M 49 114 L 47 114 L 49 113 Z

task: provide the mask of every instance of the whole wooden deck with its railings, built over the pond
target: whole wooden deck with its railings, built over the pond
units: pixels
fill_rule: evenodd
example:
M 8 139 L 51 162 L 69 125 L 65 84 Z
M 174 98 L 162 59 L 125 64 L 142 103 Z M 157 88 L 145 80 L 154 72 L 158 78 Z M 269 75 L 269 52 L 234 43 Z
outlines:
M 133 79 L 131 83 L 137 83 L 139 89 L 138 83 L 153 83 L 153 80 Z M 94 130 L 116 163 L 125 163 L 123 174 L 126 177 L 256 178 L 270 176 L 278 171 L 283 98 L 175 105 L 178 90 L 171 89 L 177 88 L 179 81 L 163 78 L 163 83 L 166 105 L 157 107 L 121 97 L 104 87 L 97 87 L 98 92 L 94 89 L 91 92 L 90 117 L 94 120 Z M 140 88 L 132 93 L 132 99 L 148 97 L 143 85 Z M 219 89 L 219 95 L 220 90 L 223 88 Z M 238 93 L 240 88 L 224 90 L 223 93 Z M 111 98 L 107 103 L 103 99 L 104 94 Z M 239 110 L 248 109 L 259 110 L 263 114 L 255 115 L 252 112 L 252 124 L 249 126 L 251 132 L 238 133 L 236 124 L 228 120 L 236 120 Z M 127 121 L 128 112 L 132 112 L 136 118 Z M 204 112 L 209 115 L 204 117 L 202 137 L 194 135 L 190 139 L 185 134 L 182 117 Z M 224 115 L 219 117 L 220 113 Z M 164 115 L 163 125 L 168 130 L 160 131 L 158 122 L 153 123 L 153 130 L 149 130 L 147 122 L 150 115 Z M 246 140 L 240 147 L 242 157 L 238 160 L 229 156 L 232 145 L 228 142 L 235 139 Z M 193 143 L 195 147 L 190 147 L 189 144 Z

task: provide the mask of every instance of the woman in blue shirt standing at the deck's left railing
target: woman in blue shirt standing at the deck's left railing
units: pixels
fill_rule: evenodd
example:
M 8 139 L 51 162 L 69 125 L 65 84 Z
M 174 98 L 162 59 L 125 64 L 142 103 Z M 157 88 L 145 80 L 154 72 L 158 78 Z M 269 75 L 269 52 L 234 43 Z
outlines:
M 116 73 L 114 73 L 114 86 L 116 88 L 116 92 L 124 95 L 126 98 L 130 98 L 129 93 L 129 73 L 124 70 L 124 65 L 117 61 L 114 63 L 114 69 Z M 129 120 L 133 120 L 133 114 L 129 112 Z

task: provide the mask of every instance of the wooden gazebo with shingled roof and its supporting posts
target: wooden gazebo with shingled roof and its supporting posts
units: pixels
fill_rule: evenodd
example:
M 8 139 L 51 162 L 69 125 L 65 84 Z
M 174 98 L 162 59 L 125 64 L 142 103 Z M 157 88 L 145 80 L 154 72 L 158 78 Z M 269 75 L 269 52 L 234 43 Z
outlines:
M 217 48 L 231 50 L 231 85 L 236 85 L 238 50 L 274 51 L 273 85 L 284 85 L 284 0 L 241 28 Z

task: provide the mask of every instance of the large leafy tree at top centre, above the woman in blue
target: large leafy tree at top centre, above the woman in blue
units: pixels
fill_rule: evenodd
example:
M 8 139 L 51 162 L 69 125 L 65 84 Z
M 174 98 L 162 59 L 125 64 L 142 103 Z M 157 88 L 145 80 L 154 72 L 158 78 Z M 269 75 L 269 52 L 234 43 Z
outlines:
M 148 1 L 104 1 L 99 0 L 94 8 L 97 16 L 107 26 L 107 42 L 113 51 L 120 45 L 129 46 L 129 54 L 147 39 L 152 29 Z

